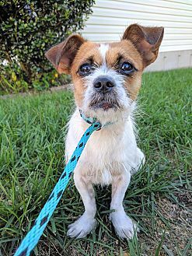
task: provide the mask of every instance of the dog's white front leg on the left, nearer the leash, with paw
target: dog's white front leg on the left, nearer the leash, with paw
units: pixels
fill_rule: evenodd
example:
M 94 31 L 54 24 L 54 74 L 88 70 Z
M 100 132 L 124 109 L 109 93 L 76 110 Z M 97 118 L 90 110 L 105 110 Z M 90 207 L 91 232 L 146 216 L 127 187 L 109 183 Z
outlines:
M 69 225 L 67 234 L 69 237 L 82 238 L 86 237 L 96 226 L 96 199 L 91 181 L 83 176 L 80 170 L 75 170 L 74 181 L 82 197 L 85 212 L 75 223 Z

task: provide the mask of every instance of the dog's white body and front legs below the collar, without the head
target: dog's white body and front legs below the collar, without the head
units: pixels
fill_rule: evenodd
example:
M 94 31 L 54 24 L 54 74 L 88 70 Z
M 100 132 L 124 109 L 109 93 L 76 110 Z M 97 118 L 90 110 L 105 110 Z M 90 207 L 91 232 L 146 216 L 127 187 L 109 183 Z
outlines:
M 66 139 L 66 158 L 72 156 L 79 139 L 89 124 L 75 110 L 69 122 Z M 86 211 L 68 230 L 71 237 L 85 237 L 96 225 L 96 202 L 92 184 L 112 184 L 110 219 L 120 237 L 131 238 L 134 226 L 124 212 L 124 193 L 130 182 L 131 173 L 138 170 L 144 155 L 138 149 L 131 117 L 102 128 L 91 135 L 79 163 L 75 168 L 75 185 L 82 196 Z

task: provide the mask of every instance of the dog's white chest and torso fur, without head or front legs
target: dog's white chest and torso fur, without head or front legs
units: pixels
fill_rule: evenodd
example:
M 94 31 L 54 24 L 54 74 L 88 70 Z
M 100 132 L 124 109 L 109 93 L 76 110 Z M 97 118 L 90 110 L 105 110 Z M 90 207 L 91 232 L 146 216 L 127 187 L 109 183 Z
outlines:
M 67 160 L 88 127 L 89 124 L 80 117 L 79 110 L 75 110 L 69 121 L 65 144 Z M 137 168 L 143 157 L 137 147 L 129 117 L 127 121 L 119 121 L 93 132 L 75 171 L 79 171 L 94 184 L 110 184 L 113 177 L 121 172 L 130 172 Z

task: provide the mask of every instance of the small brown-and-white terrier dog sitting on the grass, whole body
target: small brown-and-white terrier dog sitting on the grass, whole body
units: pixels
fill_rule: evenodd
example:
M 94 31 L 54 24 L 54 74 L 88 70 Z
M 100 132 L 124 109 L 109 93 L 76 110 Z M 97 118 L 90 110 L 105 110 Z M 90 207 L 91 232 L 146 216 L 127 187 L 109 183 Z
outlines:
M 120 42 L 110 44 L 73 34 L 46 53 L 58 72 L 71 74 L 74 83 L 77 108 L 68 124 L 66 160 L 90 125 L 79 110 L 103 125 L 91 135 L 75 168 L 75 186 L 85 212 L 69 226 L 69 237 L 86 237 L 96 226 L 93 184 L 112 184 L 110 220 L 119 237 L 134 235 L 136 226 L 124 211 L 123 199 L 131 174 L 145 156 L 136 143 L 133 110 L 142 72 L 157 58 L 163 32 L 163 27 L 132 24 Z

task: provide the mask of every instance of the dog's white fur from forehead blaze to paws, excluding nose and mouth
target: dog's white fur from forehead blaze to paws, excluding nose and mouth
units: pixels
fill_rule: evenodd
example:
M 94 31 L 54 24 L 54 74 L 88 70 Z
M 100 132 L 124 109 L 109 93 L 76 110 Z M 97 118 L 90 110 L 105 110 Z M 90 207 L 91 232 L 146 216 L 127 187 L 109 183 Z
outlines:
M 75 168 L 75 186 L 82 196 L 85 205 L 83 215 L 72 223 L 68 229 L 70 237 L 85 237 L 96 226 L 96 201 L 93 184 L 112 184 L 112 199 L 110 219 L 117 234 L 122 238 L 131 238 L 134 235 L 135 226 L 132 220 L 124 212 L 122 205 L 124 194 L 130 182 L 131 173 L 137 171 L 145 156 L 138 149 L 132 112 L 134 102 L 131 102 L 124 89 L 124 79 L 120 74 L 108 69 L 105 64 L 107 45 L 100 46 L 103 56 L 103 65 L 96 68 L 93 75 L 86 80 L 86 93 L 82 104 L 84 114 L 96 117 L 101 124 L 110 121 L 113 124 L 93 132 Z M 116 82 L 117 97 L 121 109 L 117 110 L 91 110 L 89 101 L 93 96 L 93 79 L 99 75 L 109 75 Z M 66 139 L 66 159 L 71 156 L 79 139 L 89 124 L 82 119 L 79 109 L 75 110 L 68 124 Z

